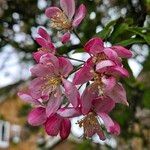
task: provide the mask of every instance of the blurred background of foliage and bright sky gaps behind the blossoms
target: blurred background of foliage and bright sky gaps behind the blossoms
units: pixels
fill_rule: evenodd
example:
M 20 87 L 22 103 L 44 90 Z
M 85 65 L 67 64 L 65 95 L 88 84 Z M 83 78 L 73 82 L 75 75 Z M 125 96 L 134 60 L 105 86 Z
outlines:
M 35 63 L 32 52 L 38 48 L 34 41 L 37 28 L 48 29 L 58 53 L 80 59 L 86 59 L 86 55 L 81 54 L 82 45 L 76 35 L 72 34 L 71 43 L 62 46 L 56 36 L 59 33 L 49 26 L 45 8 L 59 6 L 59 0 L 0 0 L 0 149 L 150 149 L 150 0 L 76 0 L 77 6 L 81 3 L 88 9 L 77 29 L 83 43 L 98 36 L 108 46 L 120 44 L 134 53 L 133 58 L 124 61 L 131 77 L 122 80 L 130 106 L 117 105 L 112 112 L 121 125 L 121 135 L 108 135 L 105 142 L 97 137 L 84 141 L 82 130 L 75 125 L 68 140 L 61 141 L 27 124 L 31 106 L 17 97 L 17 91 L 30 80 L 29 69 Z

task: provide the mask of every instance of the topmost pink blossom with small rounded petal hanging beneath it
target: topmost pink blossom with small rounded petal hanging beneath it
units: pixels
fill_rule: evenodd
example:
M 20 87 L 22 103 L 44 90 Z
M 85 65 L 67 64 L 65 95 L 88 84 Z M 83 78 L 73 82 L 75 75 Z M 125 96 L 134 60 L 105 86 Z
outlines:
M 61 41 L 66 43 L 70 39 L 70 31 L 76 28 L 84 19 L 86 8 L 83 4 L 75 10 L 74 0 L 60 0 L 61 9 L 58 7 L 49 7 L 45 14 L 51 19 L 51 27 L 57 30 L 63 30 L 65 34 Z

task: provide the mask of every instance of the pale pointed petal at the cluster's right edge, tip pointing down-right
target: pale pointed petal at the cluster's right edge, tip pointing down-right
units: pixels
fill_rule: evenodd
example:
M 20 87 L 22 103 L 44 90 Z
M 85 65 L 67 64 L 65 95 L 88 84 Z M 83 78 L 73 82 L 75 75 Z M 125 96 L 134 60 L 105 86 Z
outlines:
M 123 103 L 127 106 L 129 105 L 127 102 L 126 91 L 120 83 L 116 84 L 112 91 L 108 92 L 107 95 L 116 103 Z

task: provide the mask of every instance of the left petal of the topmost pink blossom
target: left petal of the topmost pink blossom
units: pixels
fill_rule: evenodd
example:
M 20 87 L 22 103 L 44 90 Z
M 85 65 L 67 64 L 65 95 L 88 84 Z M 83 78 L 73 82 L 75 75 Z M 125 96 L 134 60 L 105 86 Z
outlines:
M 62 13 L 62 11 L 58 7 L 48 7 L 45 11 L 45 15 L 48 18 L 54 18 L 58 13 Z

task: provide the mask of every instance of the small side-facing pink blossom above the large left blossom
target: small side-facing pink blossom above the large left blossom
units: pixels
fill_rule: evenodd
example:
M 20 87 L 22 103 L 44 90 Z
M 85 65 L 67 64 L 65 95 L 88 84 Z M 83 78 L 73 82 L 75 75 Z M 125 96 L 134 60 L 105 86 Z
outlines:
M 40 37 L 36 38 L 36 42 L 41 46 L 41 48 L 38 49 L 38 52 L 33 53 L 33 57 L 37 62 L 39 62 L 42 55 L 46 53 L 55 54 L 56 52 L 55 46 L 47 31 L 43 28 L 39 28 L 38 34 Z

